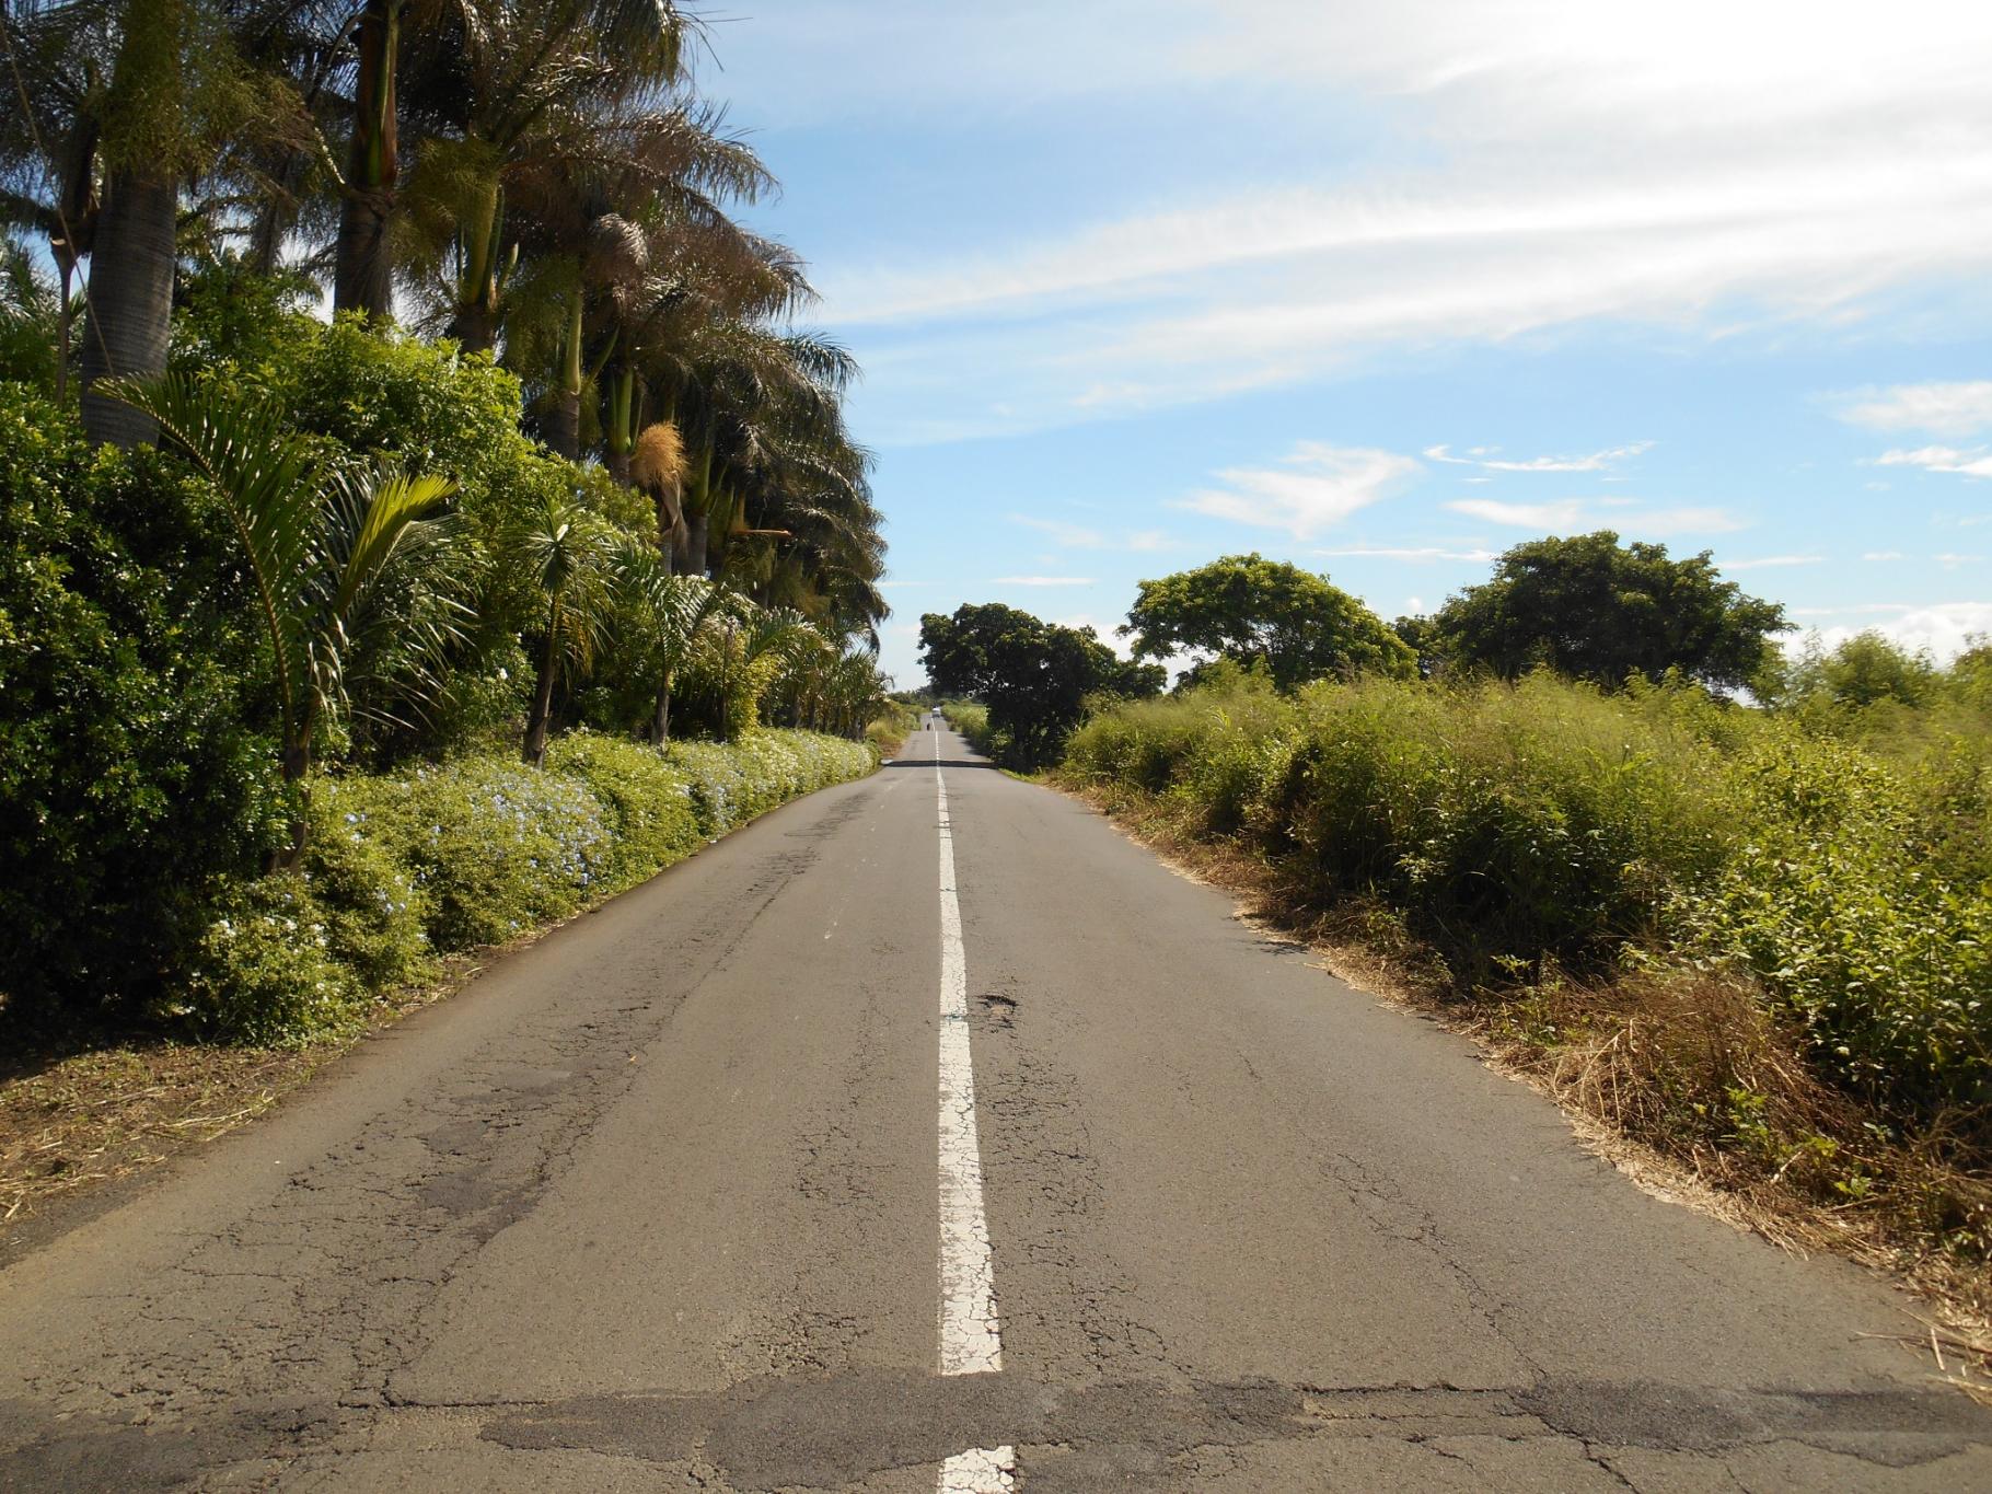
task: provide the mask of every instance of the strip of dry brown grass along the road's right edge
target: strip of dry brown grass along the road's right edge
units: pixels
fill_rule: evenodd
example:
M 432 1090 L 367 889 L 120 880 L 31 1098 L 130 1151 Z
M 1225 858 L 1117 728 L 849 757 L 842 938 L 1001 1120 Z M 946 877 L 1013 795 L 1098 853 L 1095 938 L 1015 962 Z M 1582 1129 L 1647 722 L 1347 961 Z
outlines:
M 1265 859 L 1201 837 L 1167 801 L 1060 787 L 1231 892 L 1239 916 L 1305 940 L 1351 986 L 1478 1040 L 1492 1068 L 1556 1100 L 1647 1191 L 1799 1255 L 1894 1275 L 1930 1307 L 1926 1337 L 1904 1343 L 1960 1388 L 1992 1394 L 1992 1175 L 1940 1129 L 1900 1135 L 1821 1084 L 1747 986 L 1675 970 L 1462 1000 L 1388 910 L 1309 908 Z

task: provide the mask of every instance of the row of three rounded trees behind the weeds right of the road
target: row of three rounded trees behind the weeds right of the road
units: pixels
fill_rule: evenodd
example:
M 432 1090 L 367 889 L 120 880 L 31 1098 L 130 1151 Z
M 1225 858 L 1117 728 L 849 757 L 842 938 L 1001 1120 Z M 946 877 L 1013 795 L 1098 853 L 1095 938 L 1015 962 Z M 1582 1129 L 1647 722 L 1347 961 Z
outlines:
M 924 616 L 920 647 L 934 689 L 988 705 L 1002 761 L 1042 767 L 1090 703 L 1159 693 L 1159 661 L 1179 665 L 1177 691 L 1227 671 L 1295 691 L 1355 675 L 1518 679 L 1534 669 L 1614 689 L 1675 677 L 1777 691 L 1773 637 L 1789 627 L 1781 606 L 1721 580 L 1707 552 L 1673 560 L 1665 546 L 1600 530 L 1518 544 L 1488 582 L 1396 623 L 1327 576 L 1247 554 L 1141 582 L 1120 627 L 1135 663 L 1090 629 L 996 604 Z

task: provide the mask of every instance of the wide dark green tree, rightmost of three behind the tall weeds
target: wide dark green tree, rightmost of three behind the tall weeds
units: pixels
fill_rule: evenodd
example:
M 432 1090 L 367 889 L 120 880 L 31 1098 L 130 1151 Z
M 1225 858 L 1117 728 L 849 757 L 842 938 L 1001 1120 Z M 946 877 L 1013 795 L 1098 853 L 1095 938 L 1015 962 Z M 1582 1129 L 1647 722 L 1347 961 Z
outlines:
M 1494 578 L 1432 620 L 1444 665 L 1514 679 L 1536 667 L 1623 685 L 1677 671 L 1713 689 L 1755 679 L 1785 631 L 1783 606 L 1721 580 L 1709 552 L 1669 560 L 1659 544 L 1621 546 L 1612 530 L 1518 544 Z

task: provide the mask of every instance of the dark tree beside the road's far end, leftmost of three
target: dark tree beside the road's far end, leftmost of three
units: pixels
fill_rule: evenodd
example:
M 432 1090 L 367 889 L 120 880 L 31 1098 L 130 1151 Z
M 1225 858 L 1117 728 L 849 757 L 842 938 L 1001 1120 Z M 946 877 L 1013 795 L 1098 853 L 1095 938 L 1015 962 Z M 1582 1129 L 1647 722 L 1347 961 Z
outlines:
M 1024 769 L 1056 761 L 1088 697 L 1157 695 L 1167 677 L 1161 665 L 1120 659 L 1092 627 L 1000 602 L 920 618 L 920 661 L 932 689 L 988 705 L 996 759 Z

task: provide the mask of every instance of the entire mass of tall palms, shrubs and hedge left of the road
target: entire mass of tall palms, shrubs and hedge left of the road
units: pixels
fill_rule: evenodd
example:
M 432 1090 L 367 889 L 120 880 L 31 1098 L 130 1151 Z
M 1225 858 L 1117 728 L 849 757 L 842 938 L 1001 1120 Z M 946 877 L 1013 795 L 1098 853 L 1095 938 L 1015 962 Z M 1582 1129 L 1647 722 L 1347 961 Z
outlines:
M 0 1046 L 355 1032 L 902 733 L 689 12 L 0 28 Z

